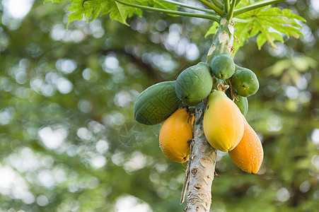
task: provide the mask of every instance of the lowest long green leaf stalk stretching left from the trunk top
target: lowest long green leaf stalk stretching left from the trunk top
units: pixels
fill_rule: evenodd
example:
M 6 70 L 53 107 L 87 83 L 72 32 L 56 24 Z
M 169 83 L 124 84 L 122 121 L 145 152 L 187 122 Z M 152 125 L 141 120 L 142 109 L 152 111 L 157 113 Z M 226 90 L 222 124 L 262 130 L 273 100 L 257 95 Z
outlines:
M 178 16 L 189 16 L 189 17 L 194 17 L 194 18 L 206 18 L 206 19 L 210 19 L 210 20 L 215 20 L 217 22 L 219 22 L 219 20 L 220 20 L 220 18 L 218 16 L 214 16 L 214 15 L 186 13 L 186 12 L 180 12 L 180 11 L 170 11 L 170 10 L 166 10 L 163 8 L 153 8 L 151 6 L 142 6 L 142 5 L 138 5 L 138 4 L 131 4 L 131 3 L 127 3 L 124 1 L 120 1 L 120 0 L 115 0 L 115 1 L 117 1 L 120 4 L 124 4 L 126 6 L 141 8 L 141 9 L 145 9 L 148 11 L 156 11 L 156 12 L 160 12 L 160 13 L 168 13 L 168 14 L 173 14 L 173 15 L 178 15 Z

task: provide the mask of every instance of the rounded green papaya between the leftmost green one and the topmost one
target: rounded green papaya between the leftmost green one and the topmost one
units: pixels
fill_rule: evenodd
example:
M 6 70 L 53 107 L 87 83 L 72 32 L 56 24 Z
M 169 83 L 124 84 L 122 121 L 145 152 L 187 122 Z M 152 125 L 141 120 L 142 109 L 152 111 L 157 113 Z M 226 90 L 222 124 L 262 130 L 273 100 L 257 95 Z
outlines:
M 209 64 L 199 62 L 180 73 L 176 79 L 175 91 L 185 105 L 192 106 L 207 98 L 212 86 Z

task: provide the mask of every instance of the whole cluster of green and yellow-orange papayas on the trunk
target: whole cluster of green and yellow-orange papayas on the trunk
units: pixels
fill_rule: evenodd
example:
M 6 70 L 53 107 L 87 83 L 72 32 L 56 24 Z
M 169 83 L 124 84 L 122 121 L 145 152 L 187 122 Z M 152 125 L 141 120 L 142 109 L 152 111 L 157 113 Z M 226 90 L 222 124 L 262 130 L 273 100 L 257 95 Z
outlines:
M 213 84 L 220 81 L 228 86 L 214 90 Z M 212 61 L 185 69 L 176 81 L 146 88 L 137 97 L 134 118 L 148 125 L 165 121 L 159 135 L 161 151 L 170 160 L 184 163 L 190 156 L 195 119 L 188 108 L 208 97 L 203 119 L 207 141 L 216 150 L 228 152 L 245 172 L 256 173 L 262 163 L 262 144 L 245 114 L 247 97 L 258 88 L 255 73 L 237 66 L 231 55 L 223 52 Z

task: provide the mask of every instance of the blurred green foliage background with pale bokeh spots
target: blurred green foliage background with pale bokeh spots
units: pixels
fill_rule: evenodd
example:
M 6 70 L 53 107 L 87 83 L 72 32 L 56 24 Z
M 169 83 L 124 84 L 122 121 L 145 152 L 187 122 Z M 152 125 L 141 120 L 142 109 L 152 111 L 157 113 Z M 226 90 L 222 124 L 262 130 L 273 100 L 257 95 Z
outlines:
M 103 16 L 66 30 L 68 4 L 0 4 L 0 211 L 182 211 L 186 163 L 133 106 L 205 60 L 212 23 L 144 11 L 130 27 Z M 211 211 L 319 210 L 318 1 L 277 6 L 306 18 L 304 37 L 236 55 L 260 80 L 247 119 L 265 158 L 250 175 L 219 152 Z

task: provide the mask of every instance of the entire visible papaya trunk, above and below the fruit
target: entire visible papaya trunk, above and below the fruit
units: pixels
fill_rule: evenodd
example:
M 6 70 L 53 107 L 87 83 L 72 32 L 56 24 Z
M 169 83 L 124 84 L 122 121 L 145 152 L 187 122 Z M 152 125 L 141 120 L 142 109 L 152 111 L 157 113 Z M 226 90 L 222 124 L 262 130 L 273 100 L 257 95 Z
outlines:
M 233 52 L 233 23 L 221 18 L 219 28 L 213 37 L 212 45 L 207 54 L 207 63 L 211 64 L 216 56 L 223 52 Z M 213 88 L 221 80 L 213 76 Z M 207 102 L 204 100 L 204 102 Z M 211 185 L 215 176 L 216 150 L 211 147 L 204 135 L 203 118 L 206 103 L 200 102 L 195 112 L 194 143 L 189 161 L 189 187 L 187 207 L 185 211 L 209 211 L 211 206 Z

